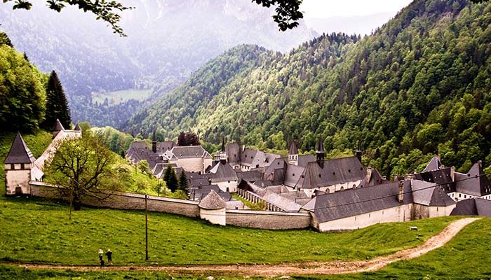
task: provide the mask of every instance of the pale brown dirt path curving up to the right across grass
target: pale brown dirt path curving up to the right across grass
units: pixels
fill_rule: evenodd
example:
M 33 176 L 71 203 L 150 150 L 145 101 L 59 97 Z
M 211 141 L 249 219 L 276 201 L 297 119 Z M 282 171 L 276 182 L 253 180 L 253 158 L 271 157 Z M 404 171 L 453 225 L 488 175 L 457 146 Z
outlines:
M 280 265 L 203 265 L 188 267 L 81 267 L 63 265 L 29 265 L 22 264 L 21 267 L 38 269 L 74 269 L 74 270 L 139 270 L 139 271 L 161 271 L 168 274 L 182 275 L 213 275 L 213 276 L 282 276 L 301 274 L 343 274 L 370 272 L 382 269 L 391 262 L 398 260 L 409 260 L 424 255 L 429 251 L 440 248 L 450 241 L 466 225 L 479 218 L 462 218 L 450 223 L 442 232 L 428 239 L 421 246 L 398 251 L 391 255 L 385 255 L 372 260 L 357 260 L 351 262 L 303 262 L 284 263 Z

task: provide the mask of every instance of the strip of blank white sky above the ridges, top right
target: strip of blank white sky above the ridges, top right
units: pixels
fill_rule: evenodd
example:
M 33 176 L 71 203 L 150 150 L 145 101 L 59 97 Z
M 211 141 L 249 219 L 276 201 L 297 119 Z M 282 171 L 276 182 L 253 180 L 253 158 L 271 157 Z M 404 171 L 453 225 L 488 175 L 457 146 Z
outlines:
M 300 10 L 304 18 L 331 18 L 335 16 L 396 13 L 411 0 L 304 0 Z

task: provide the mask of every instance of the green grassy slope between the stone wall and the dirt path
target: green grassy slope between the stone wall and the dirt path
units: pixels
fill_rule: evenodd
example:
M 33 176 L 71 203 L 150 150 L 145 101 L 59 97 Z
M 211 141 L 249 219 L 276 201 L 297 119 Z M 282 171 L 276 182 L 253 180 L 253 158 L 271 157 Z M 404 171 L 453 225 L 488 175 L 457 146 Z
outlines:
M 116 265 L 145 264 L 144 212 L 83 209 L 68 220 L 67 205 L 0 200 L 0 259 L 95 265 L 98 248 L 112 248 Z M 422 244 L 455 218 L 374 225 L 342 233 L 226 228 L 170 214 L 149 214 L 151 262 L 215 264 L 373 258 Z

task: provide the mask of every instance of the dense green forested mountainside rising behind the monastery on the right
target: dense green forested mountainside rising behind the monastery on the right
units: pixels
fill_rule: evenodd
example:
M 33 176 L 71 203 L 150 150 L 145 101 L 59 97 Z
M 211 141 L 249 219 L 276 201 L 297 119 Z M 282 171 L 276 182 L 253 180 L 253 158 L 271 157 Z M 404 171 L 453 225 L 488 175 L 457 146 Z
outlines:
M 466 172 L 491 162 L 491 4 L 416 0 L 375 31 L 323 35 L 281 55 L 241 46 L 213 59 L 127 130 L 222 135 L 260 148 L 317 137 L 383 174 L 439 153 Z

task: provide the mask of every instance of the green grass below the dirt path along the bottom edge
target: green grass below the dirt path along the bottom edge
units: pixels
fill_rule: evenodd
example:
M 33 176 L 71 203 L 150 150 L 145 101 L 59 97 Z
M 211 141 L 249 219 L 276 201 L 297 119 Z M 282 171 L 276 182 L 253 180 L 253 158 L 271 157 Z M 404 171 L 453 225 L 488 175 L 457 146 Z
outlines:
M 491 269 L 491 219 L 483 218 L 464 228 L 447 245 L 413 260 L 403 260 L 377 272 L 327 276 L 293 276 L 292 279 L 489 279 Z M 483 234 L 484 233 L 484 234 Z M 49 269 L 23 269 L 12 265 L 0 265 L 0 278 L 5 279 L 205 279 L 216 273 L 199 276 L 175 276 L 158 272 L 75 272 Z M 219 277 L 219 279 L 241 279 Z M 252 279 L 261 279 L 253 277 Z

